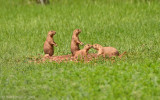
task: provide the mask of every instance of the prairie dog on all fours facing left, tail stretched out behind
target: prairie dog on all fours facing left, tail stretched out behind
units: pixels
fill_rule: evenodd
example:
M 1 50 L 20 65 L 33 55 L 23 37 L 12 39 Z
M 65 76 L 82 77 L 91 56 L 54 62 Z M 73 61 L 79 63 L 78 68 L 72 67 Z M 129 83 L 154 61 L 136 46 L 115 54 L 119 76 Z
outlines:
M 97 55 L 102 55 L 103 57 L 108 56 L 113 57 L 113 56 L 119 56 L 121 58 L 126 52 L 122 53 L 121 55 L 119 54 L 118 50 L 113 47 L 102 47 L 100 44 L 94 44 L 93 48 L 98 51 Z

